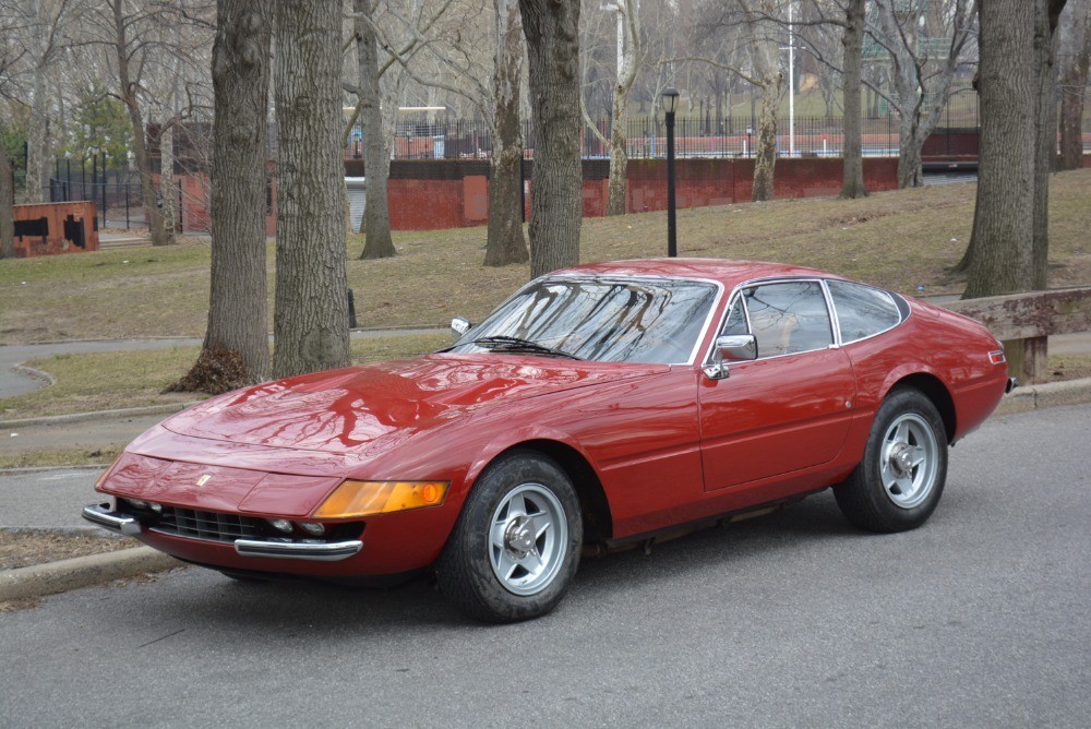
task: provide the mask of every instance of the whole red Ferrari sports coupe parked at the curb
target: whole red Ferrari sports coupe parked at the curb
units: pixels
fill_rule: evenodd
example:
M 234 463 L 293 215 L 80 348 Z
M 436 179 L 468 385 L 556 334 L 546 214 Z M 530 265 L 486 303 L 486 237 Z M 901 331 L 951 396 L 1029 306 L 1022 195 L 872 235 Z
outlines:
M 807 268 L 622 261 L 535 279 L 454 346 L 228 393 L 133 441 L 83 515 L 238 578 L 434 571 L 472 617 L 541 616 L 582 553 L 834 488 L 898 531 L 996 407 L 1000 344 Z

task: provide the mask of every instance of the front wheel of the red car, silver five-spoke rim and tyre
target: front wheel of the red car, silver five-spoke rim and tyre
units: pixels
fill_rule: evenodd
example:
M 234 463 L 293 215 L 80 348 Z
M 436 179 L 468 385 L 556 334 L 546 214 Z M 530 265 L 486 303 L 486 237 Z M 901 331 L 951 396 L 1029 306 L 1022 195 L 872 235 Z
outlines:
M 440 589 L 487 622 L 543 616 L 564 597 L 583 541 L 579 499 L 553 461 L 515 451 L 467 497 L 436 562 Z

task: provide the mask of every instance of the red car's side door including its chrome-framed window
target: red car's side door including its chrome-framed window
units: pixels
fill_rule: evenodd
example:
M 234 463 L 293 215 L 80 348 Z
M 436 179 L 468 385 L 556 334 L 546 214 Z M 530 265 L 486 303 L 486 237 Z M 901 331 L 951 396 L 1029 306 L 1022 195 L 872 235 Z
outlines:
M 831 461 L 851 421 L 855 381 L 836 345 L 819 280 L 758 283 L 736 292 L 722 334 L 751 333 L 757 359 L 698 389 L 705 490 Z

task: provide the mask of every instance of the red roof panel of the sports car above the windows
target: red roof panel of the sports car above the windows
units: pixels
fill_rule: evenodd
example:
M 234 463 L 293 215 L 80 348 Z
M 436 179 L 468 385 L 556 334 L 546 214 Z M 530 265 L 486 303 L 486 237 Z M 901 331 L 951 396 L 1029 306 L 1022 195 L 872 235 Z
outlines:
M 738 261 L 732 259 L 637 259 L 631 261 L 609 261 L 588 263 L 571 268 L 554 271 L 559 275 L 598 276 L 664 276 L 669 278 L 700 278 L 716 280 L 728 289 L 739 284 L 762 278 L 822 277 L 841 278 L 814 268 L 792 266 L 764 261 Z

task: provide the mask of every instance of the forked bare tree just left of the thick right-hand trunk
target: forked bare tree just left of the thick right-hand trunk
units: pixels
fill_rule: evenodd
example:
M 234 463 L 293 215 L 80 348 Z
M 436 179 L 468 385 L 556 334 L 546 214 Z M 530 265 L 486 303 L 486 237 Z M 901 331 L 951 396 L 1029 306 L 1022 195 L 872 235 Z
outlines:
M 951 81 L 971 37 L 978 0 L 954 0 L 945 12 L 901 0 L 876 0 L 868 33 L 890 53 L 898 109 L 898 187 L 924 184 L 921 147 L 951 94 Z

